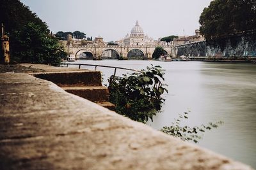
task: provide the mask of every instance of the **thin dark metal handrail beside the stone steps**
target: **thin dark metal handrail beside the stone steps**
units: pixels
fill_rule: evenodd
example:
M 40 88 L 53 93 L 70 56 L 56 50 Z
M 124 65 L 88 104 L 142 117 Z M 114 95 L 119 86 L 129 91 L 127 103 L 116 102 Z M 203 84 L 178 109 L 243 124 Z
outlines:
M 68 67 L 69 65 L 78 66 L 78 69 L 81 69 L 81 66 L 93 66 L 95 71 L 97 70 L 97 67 L 108 67 L 108 68 L 115 69 L 113 76 L 110 76 L 110 78 L 109 78 L 109 84 L 111 84 L 113 78 L 115 78 L 115 76 L 116 76 L 116 69 L 123 69 L 123 70 L 128 70 L 128 71 L 139 72 L 139 73 L 142 72 L 142 71 L 139 71 L 136 69 L 127 69 L 124 67 L 114 67 L 114 66 L 103 66 L 103 65 L 99 65 L 99 64 L 78 64 L 78 63 L 61 63 L 60 64 L 60 66 L 66 66 L 66 67 Z

